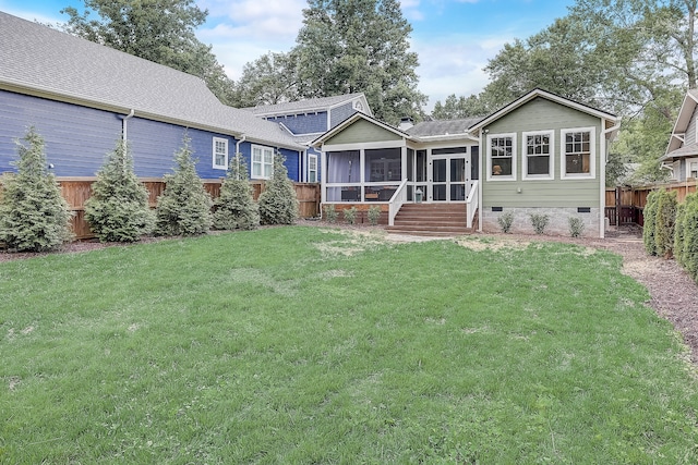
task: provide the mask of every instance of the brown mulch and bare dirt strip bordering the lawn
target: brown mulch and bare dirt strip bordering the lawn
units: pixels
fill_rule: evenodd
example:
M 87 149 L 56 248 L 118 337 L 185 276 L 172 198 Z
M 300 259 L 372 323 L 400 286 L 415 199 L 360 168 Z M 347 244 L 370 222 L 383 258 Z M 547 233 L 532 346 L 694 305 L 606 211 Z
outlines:
M 301 221 L 304 225 L 322 225 L 341 228 L 354 234 L 370 234 L 394 242 L 417 242 L 431 238 L 405 235 L 385 234 L 380 227 L 345 227 L 327 224 L 321 221 Z M 623 257 L 623 272 L 645 285 L 650 293 L 648 305 L 661 317 L 666 318 L 683 334 L 684 341 L 690 347 L 691 360 L 698 365 L 698 285 L 676 261 L 660 257 L 649 257 L 645 254 L 641 229 L 628 227 L 610 231 L 606 238 L 571 238 L 544 235 L 513 235 L 513 234 L 477 234 L 495 242 L 505 242 L 508 246 L 517 244 L 526 246 L 530 242 L 555 241 L 578 244 L 586 247 L 601 248 L 614 252 Z M 146 242 L 163 238 L 146 238 Z M 59 253 L 81 253 L 104 247 L 121 246 L 117 243 L 99 243 L 96 241 L 74 242 L 67 244 Z M 10 253 L 0 250 L 0 262 L 37 257 L 46 254 Z

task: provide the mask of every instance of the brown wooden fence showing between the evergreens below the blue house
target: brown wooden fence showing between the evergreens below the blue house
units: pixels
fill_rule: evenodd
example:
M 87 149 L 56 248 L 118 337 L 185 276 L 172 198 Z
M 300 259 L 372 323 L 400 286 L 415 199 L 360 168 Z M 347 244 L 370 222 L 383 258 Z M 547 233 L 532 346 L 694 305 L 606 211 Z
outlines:
M 59 178 L 58 182 L 61 186 L 63 198 L 70 205 L 73 211 L 72 228 L 76 238 L 94 237 L 89 230 L 89 224 L 85 221 L 85 200 L 92 194 L 92 183 L 96 178 L 68 179 Z M 143 185 L 148 191 L 148 201 L 152 208 L 155 208 L 157 197 L 165 192 L 165 181 L 161 179 L 142 179 Z M 219 180 L 205 180 L 204 187 L 210 194 L 212 198 L 220 196 Z M 298 198 L 299 215 L 301 218 L 314 218 L 320 216 L 320 184 L 311 183 L 293 183 L 296 187 L 296 197 Z M 252 181 L 253 197 L 256 200 L 260 194 L 264 192 L 263 181 Z

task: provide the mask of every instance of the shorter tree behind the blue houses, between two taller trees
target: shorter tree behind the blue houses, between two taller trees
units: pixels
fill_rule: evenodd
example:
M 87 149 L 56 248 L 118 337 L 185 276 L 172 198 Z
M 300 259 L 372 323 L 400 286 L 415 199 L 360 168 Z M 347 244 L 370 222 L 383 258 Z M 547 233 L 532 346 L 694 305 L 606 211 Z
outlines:
M 299 97 L 298 56 L 268 52 L 244 65 L 234 86 L 234 107 L 296 101 Z

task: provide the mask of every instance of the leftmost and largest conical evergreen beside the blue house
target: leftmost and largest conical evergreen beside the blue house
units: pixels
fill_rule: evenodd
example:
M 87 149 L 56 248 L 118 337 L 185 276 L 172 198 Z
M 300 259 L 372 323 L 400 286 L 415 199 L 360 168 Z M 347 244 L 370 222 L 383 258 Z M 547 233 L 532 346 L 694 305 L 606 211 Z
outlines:
M 44 138 L 33 126 L 17 145 L 16 174 L 4 174 L 0 194 L 0 242 L 16 250 L 46 252 L 72 238 L 71 211 L 48 172 Z

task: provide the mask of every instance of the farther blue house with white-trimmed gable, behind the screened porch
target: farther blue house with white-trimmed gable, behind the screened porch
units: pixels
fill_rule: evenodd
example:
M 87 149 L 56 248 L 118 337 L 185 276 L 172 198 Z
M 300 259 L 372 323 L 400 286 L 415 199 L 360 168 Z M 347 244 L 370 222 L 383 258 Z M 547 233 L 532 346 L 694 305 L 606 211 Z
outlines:
M 357 112 L 373 115 L 365 96 L 360 93 L 260 106 L 245 110 L 255 117 L 281 125 L 297 143 L 306 147 L 301 160 L 301 169 L 305 176 L 303 181 L 311 183 L 321 181 L 322 156 L 310 143 Z

